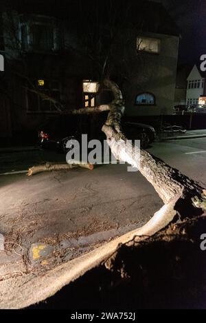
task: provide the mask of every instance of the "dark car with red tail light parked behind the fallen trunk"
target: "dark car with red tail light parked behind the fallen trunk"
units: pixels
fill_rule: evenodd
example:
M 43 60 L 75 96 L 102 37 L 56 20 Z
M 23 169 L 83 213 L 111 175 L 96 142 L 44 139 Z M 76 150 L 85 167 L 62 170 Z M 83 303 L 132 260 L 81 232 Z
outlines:
M 71 121 L 72 120 L 72 121 Z M 67 152 L 68 140 L 76 139 L 80 142 L 81 134 L 87 133 L 89 124 L 80 123 L 79 120 L 71 119 L 71 116 L 59 116 L 52 121 L 41 125 L 38 129 L 38 138 L 41 147 L 54 149 L 58 152 Z M 139 139 L 141 147 L 146 148 L 155 140 L 155 129 L 144 123 L 122 122 L 122 128 L 128 139 Z M 88 140 L 92 136 L 88 135 Z

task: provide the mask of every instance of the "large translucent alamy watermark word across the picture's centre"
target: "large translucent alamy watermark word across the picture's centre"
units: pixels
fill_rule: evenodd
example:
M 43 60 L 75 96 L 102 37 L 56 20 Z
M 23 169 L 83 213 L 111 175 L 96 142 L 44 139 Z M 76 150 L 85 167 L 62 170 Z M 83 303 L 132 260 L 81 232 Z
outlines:
M 71 138 L 67 141 L 67 163 L 87 162 L 97 164 L 125 164 L 127 171 L 138 171 L 140 162 L 140 140 L 115 140 L 111 138 L 100 141 L 92 139 L 88 141 L 87 134 L 82 134 L 81 141 Z M 113 152 L 111 152 L 111 149 Z

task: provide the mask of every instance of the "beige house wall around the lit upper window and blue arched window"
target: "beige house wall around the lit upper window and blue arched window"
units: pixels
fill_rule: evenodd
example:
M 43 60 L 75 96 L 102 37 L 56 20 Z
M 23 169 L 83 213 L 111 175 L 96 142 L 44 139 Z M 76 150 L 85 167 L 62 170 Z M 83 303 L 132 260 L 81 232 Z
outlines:
M 151 116 L 172 114 L 179 37 L 163 34 L 141 34 L 161 40 L 159 54 L 137 54 L 135 49 L 137 32 L 133 32 L 128 48 L 128 74 L 124 83 L 126 114 L 128 116 Z M 155 95 L 155 105 L 135 105 L 135 98 L 141 92 Z

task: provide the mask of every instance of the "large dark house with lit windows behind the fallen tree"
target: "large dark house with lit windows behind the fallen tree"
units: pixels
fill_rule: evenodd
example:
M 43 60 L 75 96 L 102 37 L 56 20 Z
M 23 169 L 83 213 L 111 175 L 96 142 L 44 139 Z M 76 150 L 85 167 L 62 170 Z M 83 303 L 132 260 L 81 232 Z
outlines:
M 105 101 L 99 66 L 122 88 L 127 116 L 172 114 L 179 32 L 160 3 L 45 2 L 14 1 L 1 14 L 0 138 L 36 131 L 60 114 L 56 102 L 70 110 Z

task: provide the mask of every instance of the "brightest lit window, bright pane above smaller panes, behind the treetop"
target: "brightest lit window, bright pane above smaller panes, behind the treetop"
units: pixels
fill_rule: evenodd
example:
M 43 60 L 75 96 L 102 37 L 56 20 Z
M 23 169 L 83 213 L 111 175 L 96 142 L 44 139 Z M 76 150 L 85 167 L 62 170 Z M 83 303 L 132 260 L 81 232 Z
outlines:
M 95 107 L 96 95 L 99 84 L 93 81 L 83 81 L 83 104 L 84 107 Z

